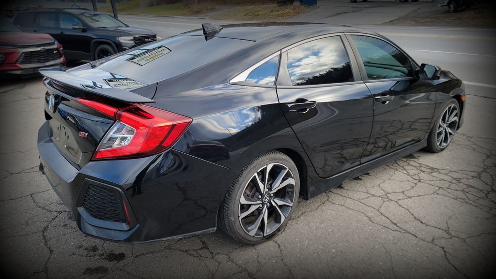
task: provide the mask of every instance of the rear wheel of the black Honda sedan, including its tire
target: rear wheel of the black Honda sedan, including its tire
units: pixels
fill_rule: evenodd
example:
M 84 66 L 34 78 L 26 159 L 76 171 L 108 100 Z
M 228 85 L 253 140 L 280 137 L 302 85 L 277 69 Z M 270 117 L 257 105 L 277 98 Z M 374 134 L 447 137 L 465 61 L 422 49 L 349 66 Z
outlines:
M 243 168 L 229 188 L 219 209 L 220 228 L 244 244 L 267 241 L 287 224 L 299 193 L 300 177 L 293 161 L 277 151 L 262 154 Z

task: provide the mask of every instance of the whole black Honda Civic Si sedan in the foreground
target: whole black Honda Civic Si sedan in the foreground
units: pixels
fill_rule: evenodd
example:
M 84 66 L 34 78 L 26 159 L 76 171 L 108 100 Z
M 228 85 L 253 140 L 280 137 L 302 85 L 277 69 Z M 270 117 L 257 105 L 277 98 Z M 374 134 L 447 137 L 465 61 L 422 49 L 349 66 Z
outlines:
M 263 242 L 299 197 L 446 149 L 466 98 L 450 72 L 327 24 L 204 24 L 40 72 L 40 169 L 84 233 L 126 243 L 218 226 Z

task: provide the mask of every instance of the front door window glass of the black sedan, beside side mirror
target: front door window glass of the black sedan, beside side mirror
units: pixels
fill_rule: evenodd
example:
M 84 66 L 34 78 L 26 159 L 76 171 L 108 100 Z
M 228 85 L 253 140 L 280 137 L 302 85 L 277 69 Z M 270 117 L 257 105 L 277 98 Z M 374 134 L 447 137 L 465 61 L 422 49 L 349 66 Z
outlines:
M 362 57 L 369 79 L 413 76 L 408 57 L 389 43 L 367 36 L 351 37 Z

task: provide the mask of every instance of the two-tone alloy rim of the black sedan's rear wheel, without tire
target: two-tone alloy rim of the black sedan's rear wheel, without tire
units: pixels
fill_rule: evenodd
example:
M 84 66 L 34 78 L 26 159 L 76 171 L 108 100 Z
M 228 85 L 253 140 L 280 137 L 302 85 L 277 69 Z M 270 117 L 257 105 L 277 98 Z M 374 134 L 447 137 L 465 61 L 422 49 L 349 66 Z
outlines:
M 284 223 L 295 197 L 291 170 L 282 164 L 268 164 L 245 185 L 238 210 L 239 222 L 250 236 L 269 235 Z

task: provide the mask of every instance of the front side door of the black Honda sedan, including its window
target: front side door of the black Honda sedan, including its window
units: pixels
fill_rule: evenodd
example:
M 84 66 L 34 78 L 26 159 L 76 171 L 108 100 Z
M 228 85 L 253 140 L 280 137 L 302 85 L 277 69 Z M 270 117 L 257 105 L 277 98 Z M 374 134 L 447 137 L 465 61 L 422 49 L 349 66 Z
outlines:
M 362 163 L 422 141 L 434 115 L 431 81 L 399 48 L 372 35 L 350 34 L 362 78 L 373 96 L 373 128 Z

